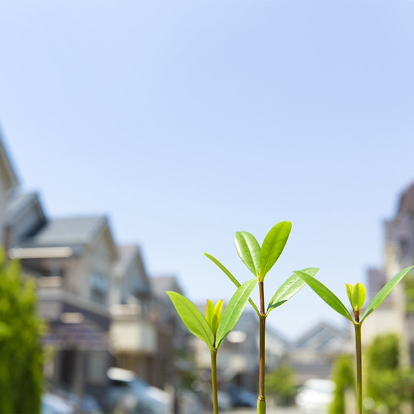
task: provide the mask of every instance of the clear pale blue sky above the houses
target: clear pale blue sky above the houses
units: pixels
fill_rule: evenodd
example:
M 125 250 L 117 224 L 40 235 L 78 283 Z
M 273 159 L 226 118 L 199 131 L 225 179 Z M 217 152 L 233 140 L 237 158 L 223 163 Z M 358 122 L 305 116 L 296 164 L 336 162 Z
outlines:
M 265 279 L 346 300 L 382 266 L 414 181 L 411 1 L 0 0 L 0 125 L 49 217 L 107 215 L 150 275 L 194 302 L 253 277 L 235 250 L 292 221 Z M 257 293 L 253 295 L 257 299 Z M 345 326 L 307 286 L 268 317 L 288 339 Z

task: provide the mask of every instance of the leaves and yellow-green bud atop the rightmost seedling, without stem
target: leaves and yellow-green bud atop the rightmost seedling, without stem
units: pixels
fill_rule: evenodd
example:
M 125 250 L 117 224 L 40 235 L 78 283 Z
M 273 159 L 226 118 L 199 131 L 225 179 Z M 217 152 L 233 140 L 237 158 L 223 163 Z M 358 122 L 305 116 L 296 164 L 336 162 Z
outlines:
M 374 299 L 371 301 L 371 304 L 368 305 L 368 308 L 366 309 L 364 316 L 360 320 L 360 323 L 364 322 L 366 317 L 368 315 L 371 315 L 375 309 L 382 304 L 382 301 L 391 293 L 391 290 L 397 285 L 398 282 L 410 271 L 414 268 L 414 266 L 410 266 L 408 268 L 405 268 L 400 273 L 397 273 L 391 279 L 381 290 L 380 292 L 375 295 Z M 349 313 L 346 306 L 337 298 L 336 295 L 334 295 L 331 290 L 329 290 L 324 284 L 319 282 L 317 279 L 313 279 L 313 277 L 310 277 L 306 273 L 300 271 L 300 272 L 293 272 L 295 275 L 299 276 L 304 282 L 306 282 L 311 289 L 319 295 L 331 308 L 333 308 L 334 311 L 337 311 L 340 315 L 346 317 L 346 319 L 349 319 L 353 324 L 357 323 L 354 322 L 351 313 Z M 348 298 L 351 302 L 351 305 L 353 306 L 353 309 L 358 309 L 360 311 L 362 305 L 365 302 L 365 288 L 362 284 L 355 284 L 354 286 L 346 285 L 346 291 L 348 293 Z

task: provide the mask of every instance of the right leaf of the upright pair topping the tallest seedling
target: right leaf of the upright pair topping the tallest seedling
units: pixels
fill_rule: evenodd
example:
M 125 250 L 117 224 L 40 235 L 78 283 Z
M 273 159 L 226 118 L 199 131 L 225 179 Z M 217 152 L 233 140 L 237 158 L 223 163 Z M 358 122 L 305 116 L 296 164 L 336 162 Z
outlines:
M 292 230 L 290 221 L 281 221 L 276 224 L 264 238 L 262 248 L 259 255 L 259 282 L 264 281 L 264 277 L 268 271 L 282 255 L 284 246 L 288 241 L 288 237 Z

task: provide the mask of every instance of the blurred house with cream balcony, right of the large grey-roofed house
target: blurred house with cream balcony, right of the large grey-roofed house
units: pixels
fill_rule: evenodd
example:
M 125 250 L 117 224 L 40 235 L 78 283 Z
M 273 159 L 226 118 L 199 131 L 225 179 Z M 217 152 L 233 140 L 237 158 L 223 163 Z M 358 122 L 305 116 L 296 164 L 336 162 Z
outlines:
M 171 383 L 177 313 L 165 290 L 181 292 L 175 277 L 149 278 L 137 246 L 120 246 L 110 312 L 115 366 L 137 373 L 149 384 Z

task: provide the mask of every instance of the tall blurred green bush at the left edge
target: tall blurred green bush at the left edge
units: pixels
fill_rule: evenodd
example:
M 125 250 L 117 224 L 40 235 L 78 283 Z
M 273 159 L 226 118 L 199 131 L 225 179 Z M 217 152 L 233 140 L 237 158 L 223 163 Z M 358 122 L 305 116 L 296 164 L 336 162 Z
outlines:
M 39 413 L 43 386 L 36 285 L 0 250 L 0 413 Z

